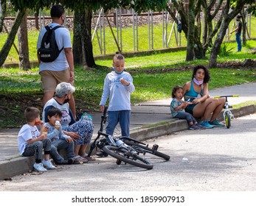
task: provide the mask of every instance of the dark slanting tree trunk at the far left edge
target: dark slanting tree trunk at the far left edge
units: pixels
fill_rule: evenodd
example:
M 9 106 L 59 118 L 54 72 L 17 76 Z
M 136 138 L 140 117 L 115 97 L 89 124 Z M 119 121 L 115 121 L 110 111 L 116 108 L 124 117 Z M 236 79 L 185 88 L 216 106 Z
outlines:
M 20 26 L 24 14 L 25 11 L 18 11 L 12 29 L 10 30 L 7 40 L 5 41 L 4 46 L 1 48 L 0 51 L 0 66 L 4 64 L 4 61 L 9 54 L 9 51 L 13 45 L 13 41 L 15 40 L 15 35 L 18 32 L 18 26 Z

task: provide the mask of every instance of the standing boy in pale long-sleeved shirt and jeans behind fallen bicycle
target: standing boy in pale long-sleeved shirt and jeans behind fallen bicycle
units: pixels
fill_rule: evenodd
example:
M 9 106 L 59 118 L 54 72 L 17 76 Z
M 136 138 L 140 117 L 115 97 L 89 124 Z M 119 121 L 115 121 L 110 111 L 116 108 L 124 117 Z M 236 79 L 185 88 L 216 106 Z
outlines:
M 103 95 L 100 101 L 100 110 L 103 112 L 105 103 L 108 104 L 108 126 L 106 133 L 113 135 L 118 122 L 120 123 L 122 136 L 130 135 L 131 93 L 135 90 L 131 74 L 125 71 L 125 58 L 122 54 L 115 54 L 113 59 L 113 71 L 107 74 L 104 81 Z M 103 156 L 98 152 L 98 156 Z

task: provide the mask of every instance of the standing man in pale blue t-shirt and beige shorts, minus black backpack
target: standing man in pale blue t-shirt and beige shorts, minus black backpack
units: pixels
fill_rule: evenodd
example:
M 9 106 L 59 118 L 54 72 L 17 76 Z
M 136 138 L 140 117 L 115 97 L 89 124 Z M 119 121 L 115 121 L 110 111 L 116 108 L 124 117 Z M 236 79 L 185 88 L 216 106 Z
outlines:
M 51 17 L 52 23 L 49 24 L 50 29 L 55 26 L 61 26 L 65 20 L 64 8 L 59 4 L 53 5 L 51 9 Z M 39 33 L 37 49 L 40 49 L 41 47 L 41 41 L 45 32 L 46 28 L 41 29 L 41 32 Z M 69 82 L 72 85 L 74 84 L 74 59 L 69 30 L 64 27 L 55 29 L 55 40 L 58 45 L 58 49 L 63 49 L 60 51 L 57 59 L 53 62 L 42 62 L 39 58 L 38 52 L 38 62 L 40 63 L 39 74 L 41 75 L 41 86 L 44 90 L 43 107 L 44 104 L 54 96 L 55 88 L 60 82 Z M 74 117 L 76 117 L 74 96 L 70 99 L 69 106 Z

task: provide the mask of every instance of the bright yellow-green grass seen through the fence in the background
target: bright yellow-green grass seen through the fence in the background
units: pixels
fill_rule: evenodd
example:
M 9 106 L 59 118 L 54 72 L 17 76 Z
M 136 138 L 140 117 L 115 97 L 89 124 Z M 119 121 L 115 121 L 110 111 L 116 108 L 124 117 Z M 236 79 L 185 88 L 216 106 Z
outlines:
M 251 38 L 256 38 L 256 27 L 254 26 L 256 24 L 256 18 L 252 17 L 252 26 L 251 26 Z M 170 35 L 171 26 L 173 24 L 168 24 L 167 26 L 167 39 Z M 230 24 L 230 28 L 231 28 Z M 117 38 L 117 31 L 116 28 L 113 28 L 114 35 Z M 91 31 L 93 34 L 94 30 Z M 36 61 L 36 43 L 38 40 L 38 30 L 32 29 L 29 30 L 28 33 L 28 40 L 29 40 L 29 49 L 30 49 L 30 61 Z M 73 35 L 72 31 L 70 32 L 71 36 Z M 98 31 L 98 35 L 100 36 L 100 31 Z M 179 35 L 178 35 L 179 36 Z M 7 35 L 0 33 L 0 49 L 4 45 L 5 40 L 7 39 Z M 139 40 L 139 51 L 146 51 L 149 49 L 148 46 L 148 26 L 139 26 L 138 27 L 138 40 Z M 156 24 L 153 26 L 153 49 L 162 49 L 162 24 Z M 235 35 L 231 35 L 230 40 L 235 40 Z M 94 36 L 94 40 L 92 42 L 93 48 L 94 48 L 94 56 L 100 55 L 100 47 L 97 40 L 97 35 Z M 186 46 L 187 40 L 184 38 L 184 32 L 181 32 L 181 46 Z M 18 47 L 18 40 L 15 38 L 15 45 Z M 169 48 L 173 48 L 178 46 L 176 38 L 174 33 L 172 34 L 170 38 Z M 251 45 L 251 43 L 250 43 Z M 234 48 L 233 50 L 236 50 L 235 43 L 230 44 L 230 48 Z M 252 46 L 252 45 L 251 45 Z M 252 46 L 253 47 L 253 46 Z M 117 51 L 117 45 L 114 41 L 113 35 L 111 33 L 111 29 L 109 29 L 108 26 L 105 27 L 105 54 L 114 54 Z M 134 51 L 134 45 L 133 45 L 133 29 L 132 27 L 122 28 L 122 51 L 123 52 L 132 52 Z M 181 55 L 176 54 L 176 57 L 171 57 L 170 60 L 176 60 L 176 58 L 179 59 Z M 153 59 L 151 61 L 155 61 L 156 59 Z M 167 60 L 169 61 L 169 60 Z M 7 57 L 7 60 L 5 63 L 18 63 L 18 54 L 15 51 L 14 47 L 10 50 L 10 53 Z M 139 64 L 138 64 L 139 66 Z

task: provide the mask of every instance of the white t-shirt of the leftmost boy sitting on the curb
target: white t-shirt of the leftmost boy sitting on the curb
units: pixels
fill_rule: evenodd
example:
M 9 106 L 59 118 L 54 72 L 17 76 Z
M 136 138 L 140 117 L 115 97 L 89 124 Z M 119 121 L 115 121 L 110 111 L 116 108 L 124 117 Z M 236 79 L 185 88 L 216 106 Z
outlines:
M 29 124 L 24 124 L 18 132 L 18 149 L 20 154 L 23 154 L 27 141 L 32 138 L 37 138 L 40 135 L 37 127 L 32 127 Z

